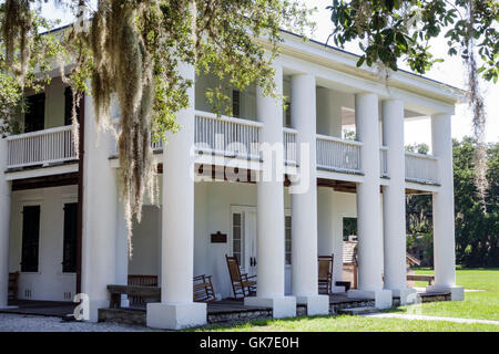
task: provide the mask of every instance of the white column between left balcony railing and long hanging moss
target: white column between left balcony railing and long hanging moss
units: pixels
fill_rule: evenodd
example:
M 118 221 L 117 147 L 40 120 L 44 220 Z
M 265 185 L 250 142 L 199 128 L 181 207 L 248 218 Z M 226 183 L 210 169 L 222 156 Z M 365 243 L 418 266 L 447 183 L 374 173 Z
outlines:
M 92 97 L 84 102 L 82 293 L 89 296 L 89 320 L 95 322 L 98 309 L 109 306 L 106 287 L 116 281 L 116 170 L 109 164 L 112 134 L 98 133 Z

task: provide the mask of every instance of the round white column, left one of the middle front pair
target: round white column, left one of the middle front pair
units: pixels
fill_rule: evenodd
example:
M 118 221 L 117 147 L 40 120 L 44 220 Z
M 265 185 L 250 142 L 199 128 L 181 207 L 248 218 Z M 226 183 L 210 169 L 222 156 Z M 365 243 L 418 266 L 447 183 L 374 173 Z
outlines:
M 277 94 L 283 93 L 283 69 L 274 64 Z M 265 305 L 273 309 L 274 317 L 296 315 L 296 301 L 284 295 L 285 261 L 284 261 L 284 187 L 283 160 L 275 157 L 279 154 L 268 154 L 269 148 L 282 150 L 283 147 L 283 107 L 282 102 L 263 95 L 261 87 L 256 88 L 256 116 L 264 124 L 261 142 L 264 163 L 267 173 L 259 174 L 256 184 L 257 194 L 257 295 L 245 298 L 247 305 Z

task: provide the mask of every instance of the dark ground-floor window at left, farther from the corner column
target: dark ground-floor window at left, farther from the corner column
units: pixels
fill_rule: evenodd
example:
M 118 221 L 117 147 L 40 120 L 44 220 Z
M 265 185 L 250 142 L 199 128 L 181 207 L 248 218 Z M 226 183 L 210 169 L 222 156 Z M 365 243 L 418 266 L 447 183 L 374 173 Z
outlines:
M 40 242 L 40 206 L 22 209 L 21 272 L 38 272 L 38 249 Z

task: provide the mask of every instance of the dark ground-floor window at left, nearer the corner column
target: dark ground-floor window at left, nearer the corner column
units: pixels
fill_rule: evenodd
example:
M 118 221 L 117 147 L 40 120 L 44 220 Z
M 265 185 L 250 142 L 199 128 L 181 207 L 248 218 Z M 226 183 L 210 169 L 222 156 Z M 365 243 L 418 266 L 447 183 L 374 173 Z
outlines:
M 62 272 L 77 272 L 78 202 L 64 205 Z

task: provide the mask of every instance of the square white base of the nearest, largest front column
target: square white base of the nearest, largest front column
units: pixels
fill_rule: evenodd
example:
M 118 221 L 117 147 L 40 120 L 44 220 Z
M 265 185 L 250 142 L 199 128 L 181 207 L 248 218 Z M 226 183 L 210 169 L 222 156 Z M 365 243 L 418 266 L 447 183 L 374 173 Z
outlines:
M 182 330 L 206 324 L 206 304 L 190 303 L 147 303 L 147 327 L 161 330 Z

